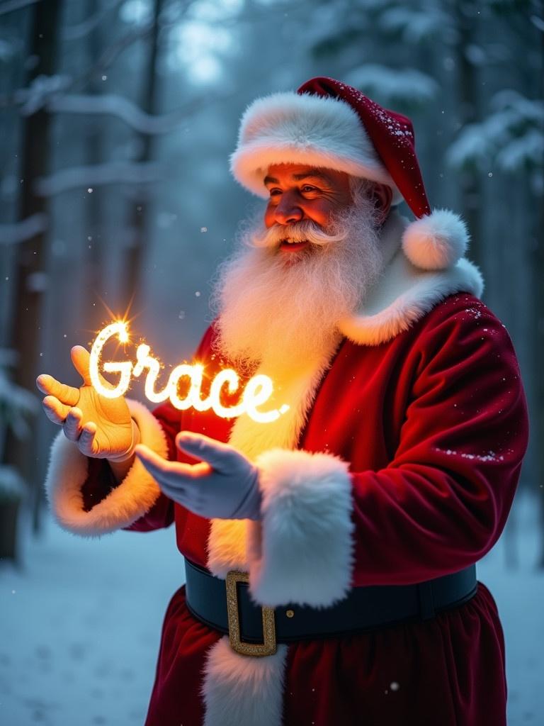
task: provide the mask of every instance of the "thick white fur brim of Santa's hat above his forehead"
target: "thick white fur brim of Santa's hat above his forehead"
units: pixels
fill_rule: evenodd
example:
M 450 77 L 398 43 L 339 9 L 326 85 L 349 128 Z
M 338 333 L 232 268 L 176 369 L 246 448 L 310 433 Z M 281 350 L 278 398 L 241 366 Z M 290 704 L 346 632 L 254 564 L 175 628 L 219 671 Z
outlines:
M 265 198 L 268 167 L 281 163 L 336 169 L 380 181 L 392 187 L 395 203 L 402 199 L 357 112 L 340 99 L 276 93 L 247 107 L 231 155 L 234 178 Z

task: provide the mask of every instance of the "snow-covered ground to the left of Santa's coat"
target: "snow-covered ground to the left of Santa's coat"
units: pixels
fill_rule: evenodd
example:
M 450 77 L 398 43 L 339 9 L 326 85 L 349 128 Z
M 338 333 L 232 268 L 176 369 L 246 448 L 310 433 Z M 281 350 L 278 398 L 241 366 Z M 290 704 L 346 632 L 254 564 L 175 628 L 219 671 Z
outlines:
M 81 539 L 49 518 L 0 567 L 0 724 L 138 726 L 162 615 L 184 582 L 173 528 Z

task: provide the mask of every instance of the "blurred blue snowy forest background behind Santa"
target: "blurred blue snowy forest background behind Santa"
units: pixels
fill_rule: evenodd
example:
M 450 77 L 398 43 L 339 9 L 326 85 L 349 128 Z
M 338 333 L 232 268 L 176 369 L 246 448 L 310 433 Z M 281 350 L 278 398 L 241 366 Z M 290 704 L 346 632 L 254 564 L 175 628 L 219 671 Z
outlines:
M 524 674 L 524 685 L 513 688 L 511 724 L 543 723 L 544 661 L 531 646 L 537 632 L 540 643 L 544 637 L 543 1 L 0 0 L 0 722 L 6 726 L 141 722 L 160 613 L 178 577 L 172 533 L 149 537 L 147 547 L 154 542 L 156 550 L 133 544 L 144 537 L 120 533 L 131 542 L 115 557 L 130 568 L 126 560 L 137 552 L 134 576 L 169 550 L 169 579 L 157 583 L 163 599 L 149 604 L 157 623 L 144 634 L 145 656 L 134 653 L 148 658 L 149 672 L 140 681 L 121 669 L 118 690 L 106 688 L 104 699 L 117 699 L 117 717 L 110 704 L 96 713 L 88 706 L 88 721 L 62 711 L 66 694 L 51 693 L 70 679 L 46 666 L 54 646 L 44 644 L 43 633 L 41 640 L 39 630 L 30 636 L 36 642 L 24 640 L 20 617 L 31 618 L 30 605 L 16 602 L 24 590 L 53 609 L 54 597 L 64 602 L 69 580 L 55 584 L 48 560 L 49 579 L 30 582 L 33 561 L 45 566 L 38 552 L 48 537 L 60 537 L 51 557 L 63 547 L 83 547 L 51 535 L 43 481 L 57 429 L 41 411 L 36 376 L 47 372 L 79 385 L 70 348 L 89 346 L 125 312 L 135 335 L 145 335 L 163 361 L 191 356 L 211 319 L 215 269 L 230 253 L 240 221 L 260 205 L 228 171 L 239 118 L 255 97 L 296 89 L 312 76 L 339 78 L 410 116 L 431 206 L 466 220 L 468 256 L 485 279 L 482 299 L 514 341 L 531 441 L 519 494 L 487 567 L 506 616 L 535 603 L 527 616 L 532 632 L 518 631 L 524 623 L 506 628 L 511 667 Z M 138 386 L 133 396 L 143 400 Z M 76 587 L 95 582 L 95 566 L 103 566 L 106 582 L 115 581 L 113 567 L 104 564 L 115 560 L 110 545 L 92 550 L 100 546 L 82 555 L 88 578 Z M 133 584 L 125 586 L 133 592 Z M 110 616 L 123 619 L 122 606 L 109 597 Z M 146 604 L 144 598 L 128 617 L 146 619 Z M 65 626 L 69 633 L 77 628 L 71 620 Z M 102 621 L 102 627 L 109 626 Z M 132 637 L 111 628 L 111 634 L 102 630 L 103 645 L 110 635 Z M 91 660 L 83 635 L 70 637 L 60 641 L 71 653 L 65 657 L 83 668 L 86 654 Z M 49 680 L 36 692 L 32 678 L 15 686 L 9 672 L 17 667 Z M 86 703 L 77 695 L 83 680 L 68 687 L 74 708 Z M 121 713 L 125 693 L 136 687 L 143 711 L 136 704 Z

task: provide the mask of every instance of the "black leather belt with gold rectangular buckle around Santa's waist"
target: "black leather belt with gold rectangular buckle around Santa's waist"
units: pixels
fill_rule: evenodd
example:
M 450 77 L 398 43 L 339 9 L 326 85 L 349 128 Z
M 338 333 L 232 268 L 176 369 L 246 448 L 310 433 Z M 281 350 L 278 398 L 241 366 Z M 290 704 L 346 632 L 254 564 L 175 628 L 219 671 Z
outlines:
M 436 613 L 463 605 L 477 592 L 476 566 L 471 565 L 417 584 L 354 587 L 344 600 L 330 608 L 261 608 L 250 598 L 245 573 L 233 571 L 225 581 L 187 559 L 185 571 L 189 611 L 209 627 L 228 633 L 234 650 L 255 656 L 274 653 L 276 643 L 338 637 L 428 620 Z

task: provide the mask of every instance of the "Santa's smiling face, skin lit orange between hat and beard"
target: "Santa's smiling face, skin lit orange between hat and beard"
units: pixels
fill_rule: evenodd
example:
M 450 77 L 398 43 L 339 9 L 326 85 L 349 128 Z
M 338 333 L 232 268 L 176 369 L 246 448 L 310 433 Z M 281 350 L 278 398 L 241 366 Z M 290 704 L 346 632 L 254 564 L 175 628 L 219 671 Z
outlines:
M 353 202 L 350 177 L 334 169 L 273 164 L 268 168 L 264 184 L 270 195 L 265 227 L 285 228 L 285 237 L 279 242 L 283 253 L 297 253 L 308 246 L 308 240 L 289 237 L 289 225 L 310 221 L 326 228 L 334 214 Z

